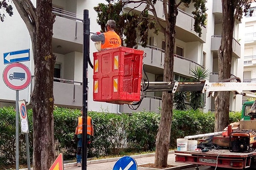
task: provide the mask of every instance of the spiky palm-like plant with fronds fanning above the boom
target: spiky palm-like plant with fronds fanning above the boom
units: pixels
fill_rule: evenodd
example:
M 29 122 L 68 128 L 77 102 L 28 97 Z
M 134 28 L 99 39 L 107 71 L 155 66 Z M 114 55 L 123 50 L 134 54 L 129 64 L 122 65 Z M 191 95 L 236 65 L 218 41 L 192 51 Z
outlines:
M 192 82 L 200 82 L 202 80 L 208 79 L 210 76 L 209 70 L 202 67 L 196 67 L 195 70 L 192 69 L 191 72 L 192 78 L 190 81 Z M 192 91 L 190 93 L 189 106 L 193 110 L 204 108 L 203 95 L 196 91 Z

